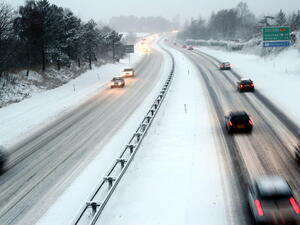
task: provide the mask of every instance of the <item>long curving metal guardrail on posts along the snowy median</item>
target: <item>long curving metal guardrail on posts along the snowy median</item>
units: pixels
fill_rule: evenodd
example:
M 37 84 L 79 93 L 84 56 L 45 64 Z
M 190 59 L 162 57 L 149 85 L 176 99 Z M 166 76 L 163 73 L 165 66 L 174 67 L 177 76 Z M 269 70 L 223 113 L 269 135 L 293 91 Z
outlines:
M 167 94 L 174 74 L 174 58 L 168 50 L 164 50 L 170 55 L 172 59 L 172 69 L 170 75 L 168 76 L 163 88 L 161 89 L 154 103 L 151 105 L 150 110 L 147 112 L 146 116 L 138 126 L 136 132 L 132 135 L 130 141 L 123 149 L 121 155 L 114 162 L 113 166 L 110 168 L 108 173 L 103 177 L 96 190 L 93 192 L 89 200 L 81 209 L 79 216 L 72 224 L 96 224 L 100 214 L 102 213 L 108 200 L 110 199 L 118 183 L 120 182 L 131 161 L 133 160 L 137 150 L 139 149 L 142 143 L 142 140 L 147 134 L 147 131 L 151 126 L 152 121 L 156 116 Z

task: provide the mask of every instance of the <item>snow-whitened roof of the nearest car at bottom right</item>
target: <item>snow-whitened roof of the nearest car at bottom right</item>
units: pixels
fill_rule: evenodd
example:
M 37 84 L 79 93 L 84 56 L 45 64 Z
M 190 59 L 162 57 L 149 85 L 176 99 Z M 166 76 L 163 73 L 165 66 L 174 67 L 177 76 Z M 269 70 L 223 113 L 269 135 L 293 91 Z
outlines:
M 255 182 L 260 195 L 292 194 L 289 184 L 280 176 L 263 176 L 257 178 Z

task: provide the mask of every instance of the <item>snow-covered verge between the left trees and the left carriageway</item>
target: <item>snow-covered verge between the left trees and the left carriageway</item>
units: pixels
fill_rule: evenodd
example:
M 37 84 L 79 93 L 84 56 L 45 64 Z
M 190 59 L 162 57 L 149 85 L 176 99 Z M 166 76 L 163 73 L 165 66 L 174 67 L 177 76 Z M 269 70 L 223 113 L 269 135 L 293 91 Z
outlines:
M 117 64 L 94 68 L 69 83 L 49 91 L 36 93 L 22 102 L 0 109 L 0 145 L 10 149 L 33 132 L 76 108 L 108 86 L 114 76 L 119 76 L 124 67 L 132 67 L 143 57 L 137 51 Z

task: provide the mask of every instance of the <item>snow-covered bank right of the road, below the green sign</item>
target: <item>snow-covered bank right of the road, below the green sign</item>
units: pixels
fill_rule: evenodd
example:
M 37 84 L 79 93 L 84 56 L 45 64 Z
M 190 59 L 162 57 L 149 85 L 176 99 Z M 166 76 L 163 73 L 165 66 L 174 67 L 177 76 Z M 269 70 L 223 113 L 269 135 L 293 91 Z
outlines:
M 300 53 L 297 49 L 289 48 L 265 58 L 207 47 L 199 49 L 220 61 L 231 62 L 236 72 L 251 78 L 257 90 L 300 126 Z

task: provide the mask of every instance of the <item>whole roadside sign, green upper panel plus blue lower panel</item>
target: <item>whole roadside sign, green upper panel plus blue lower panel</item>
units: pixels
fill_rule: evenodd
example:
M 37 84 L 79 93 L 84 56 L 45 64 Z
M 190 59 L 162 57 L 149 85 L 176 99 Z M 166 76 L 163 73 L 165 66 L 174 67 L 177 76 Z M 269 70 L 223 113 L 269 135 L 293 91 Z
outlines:
M 290 27 L 264 27 L 263 47 L 287 47 L 290 45 Z

